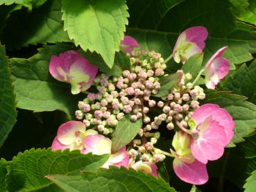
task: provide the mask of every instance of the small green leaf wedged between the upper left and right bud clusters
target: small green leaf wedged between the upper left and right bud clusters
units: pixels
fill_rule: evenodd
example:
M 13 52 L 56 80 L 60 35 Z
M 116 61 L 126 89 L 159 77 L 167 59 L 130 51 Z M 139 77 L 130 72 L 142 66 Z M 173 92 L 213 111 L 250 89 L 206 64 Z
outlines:
M 161 87 L 158 91 L 158 94 L 156 94 L 155 96 L 156 97 L 167 96 L 167 94 L 169 94 L 171 89 L 173 89 L 174 86 L 177 85 L 177 83 L 180 81 L 181 78 L 182 78 L 182 73 L 180 72 L 173 73 L 169 76 L 164 76 L 160 78 Z

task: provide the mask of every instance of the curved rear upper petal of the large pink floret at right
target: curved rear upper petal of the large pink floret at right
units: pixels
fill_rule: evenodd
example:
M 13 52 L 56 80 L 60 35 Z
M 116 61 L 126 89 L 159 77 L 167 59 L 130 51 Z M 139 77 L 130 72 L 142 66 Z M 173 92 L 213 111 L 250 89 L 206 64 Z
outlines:
M 191 116 L 196 123 L 199 125 L 200 123 L 203 123 L 205 119 L 210 118 L 213 121 L 216 121 L 223 127 L 223 130 L 225 132 L 225 141 L 223 141 L 223 146 L 228 145 L 230 143 L 234 132 L 234 121 L 232 119 L 232 116 L 224 110 L 223 108 L 219 107 L 219 105 L 207 103 L 205 105 L 201 105 Z

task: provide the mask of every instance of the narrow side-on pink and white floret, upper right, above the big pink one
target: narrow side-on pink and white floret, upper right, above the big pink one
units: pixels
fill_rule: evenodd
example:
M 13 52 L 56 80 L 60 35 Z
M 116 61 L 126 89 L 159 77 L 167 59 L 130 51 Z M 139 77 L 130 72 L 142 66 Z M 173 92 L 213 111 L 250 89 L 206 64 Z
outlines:
M 215 89 L 219 81 L 228 74 L 230 63 L 222 56 L 226 49 L 228 46 L 219 49 L 205 65 L 205 85 L 208 89 Z

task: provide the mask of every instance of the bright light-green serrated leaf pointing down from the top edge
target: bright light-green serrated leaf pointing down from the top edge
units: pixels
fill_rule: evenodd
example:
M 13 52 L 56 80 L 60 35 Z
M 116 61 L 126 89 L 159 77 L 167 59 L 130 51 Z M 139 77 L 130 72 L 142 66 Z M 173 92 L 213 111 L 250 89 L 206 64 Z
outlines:
M 128 24 L 124 0 L 62 0 L 64 28 L 71 40 L 84 51 L 101 54 L 112 68 L 114 53 L 119 51 L 123 32 Z

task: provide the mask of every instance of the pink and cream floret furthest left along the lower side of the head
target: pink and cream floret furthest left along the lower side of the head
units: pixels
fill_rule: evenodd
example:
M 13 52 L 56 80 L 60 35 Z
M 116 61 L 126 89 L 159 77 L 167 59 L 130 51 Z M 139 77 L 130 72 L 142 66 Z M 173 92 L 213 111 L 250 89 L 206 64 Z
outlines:
M 88 135 L 97 134 L 95 130 L 85 130 L 85 124 L 80 121 L 68 121 L 60 125 L 57 136 L 53 140 L 53 150 L 83 150 L 83 139 Z

